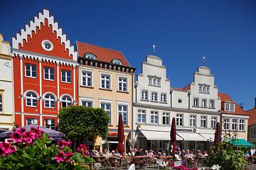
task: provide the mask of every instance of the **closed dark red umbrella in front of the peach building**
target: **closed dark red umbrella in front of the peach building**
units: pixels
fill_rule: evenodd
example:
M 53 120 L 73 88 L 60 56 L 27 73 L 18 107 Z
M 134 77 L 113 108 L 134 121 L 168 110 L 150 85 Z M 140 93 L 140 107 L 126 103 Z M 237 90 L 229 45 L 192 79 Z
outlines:
M 118 131 L 117 131 L 117 139 L 118 139 L 118 145 L 117 149 L 119 154 L 124 153 L 124 123 L 122 120 L 122 114 L 119 114 L 119 120 L 118 120 Z

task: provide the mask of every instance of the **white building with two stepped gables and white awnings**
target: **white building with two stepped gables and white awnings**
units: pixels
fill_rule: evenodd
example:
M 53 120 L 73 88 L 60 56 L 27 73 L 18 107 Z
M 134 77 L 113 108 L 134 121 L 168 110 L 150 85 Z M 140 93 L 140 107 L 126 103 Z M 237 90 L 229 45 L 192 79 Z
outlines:
M 171 88 L 166 67 L 149 55 L 137 75 L 134 92 L 133 137 L 137 147 L 168 150 L 171 119 L 176 118 L 178 145 L 206 149 L 220 120 L 220 98 L 208 67 L 198 67 L 184 89 Z

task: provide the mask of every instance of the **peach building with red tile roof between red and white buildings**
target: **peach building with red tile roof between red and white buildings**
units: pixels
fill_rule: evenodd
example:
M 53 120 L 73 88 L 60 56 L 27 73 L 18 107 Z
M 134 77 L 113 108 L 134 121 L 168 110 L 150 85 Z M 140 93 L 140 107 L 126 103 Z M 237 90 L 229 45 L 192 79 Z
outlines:
M 79 69 L 78 102 L 80 106 L 103 108 L 110 116 L 106 140 L 97 139 L 97 149 L 117 147 L 118 115 L 124 122 L 124 146 L 129 147 L 132 130 L 132 84 L 135 69 L 120 51 L 77 42 Z M 90 145 L 87 144 L 87 145 Z

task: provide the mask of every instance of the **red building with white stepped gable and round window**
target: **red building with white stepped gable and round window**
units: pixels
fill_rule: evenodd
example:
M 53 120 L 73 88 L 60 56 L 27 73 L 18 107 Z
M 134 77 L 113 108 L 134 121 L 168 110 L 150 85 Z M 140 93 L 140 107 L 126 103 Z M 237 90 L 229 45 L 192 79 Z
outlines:
M 78 55 L 48 10 L 13 38 L 15 123 L 48 128 L 78 101 Z

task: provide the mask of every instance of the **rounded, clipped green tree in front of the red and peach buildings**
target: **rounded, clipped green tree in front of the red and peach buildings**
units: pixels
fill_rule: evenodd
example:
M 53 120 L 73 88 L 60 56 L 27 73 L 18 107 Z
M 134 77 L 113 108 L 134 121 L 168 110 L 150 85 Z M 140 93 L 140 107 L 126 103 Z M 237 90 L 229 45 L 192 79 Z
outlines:
M 73 142 L 81 143 L 87 137 L 105 138 L 110 118 L 102 108 L 72 106 L 60 109 L 58 115 L 60 132 Z

